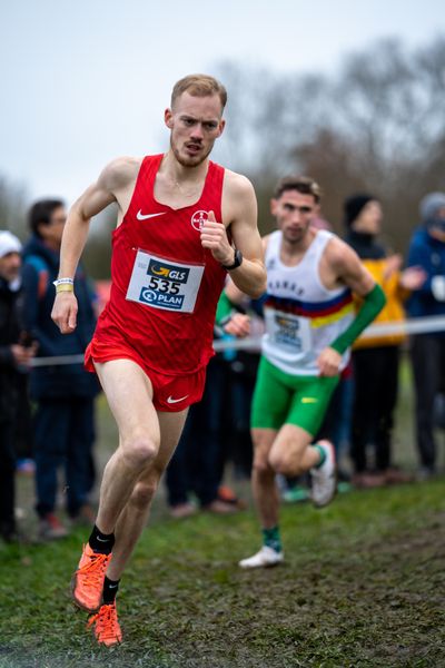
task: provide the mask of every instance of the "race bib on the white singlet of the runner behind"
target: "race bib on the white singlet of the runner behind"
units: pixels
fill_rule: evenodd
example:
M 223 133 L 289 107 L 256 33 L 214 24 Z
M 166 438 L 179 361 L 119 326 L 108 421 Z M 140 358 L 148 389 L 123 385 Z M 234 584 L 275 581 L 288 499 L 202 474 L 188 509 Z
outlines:
M 270 343 L 293 353 L 306 354 L 312 350 L 309 318 L 266 308 L 265 320 Z

